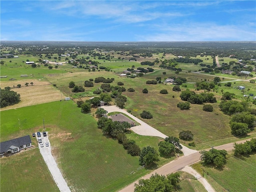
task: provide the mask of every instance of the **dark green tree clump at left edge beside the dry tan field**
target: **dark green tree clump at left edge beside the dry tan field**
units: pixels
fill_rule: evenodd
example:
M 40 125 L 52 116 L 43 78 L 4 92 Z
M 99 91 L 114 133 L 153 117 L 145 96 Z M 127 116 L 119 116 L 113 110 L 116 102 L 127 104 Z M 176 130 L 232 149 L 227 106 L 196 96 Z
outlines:
M 20 94 L 10 90 L 10 87 L 0 89 L 0 107 L 6 107 L 20 102 Z

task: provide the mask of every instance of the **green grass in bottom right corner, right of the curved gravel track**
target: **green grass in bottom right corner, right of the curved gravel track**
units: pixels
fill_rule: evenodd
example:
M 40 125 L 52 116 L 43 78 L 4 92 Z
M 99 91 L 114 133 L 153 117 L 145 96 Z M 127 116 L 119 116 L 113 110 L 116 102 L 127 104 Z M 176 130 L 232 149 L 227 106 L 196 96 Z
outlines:
M 227 164 L 223 170 L 204 166 L 204 174 L 207 173 L 206 179 L 216 191 L 224 191 L 220 189 L 220 186 L 228 191 L 256 191 L 256 154 L 250 154 L 248 157 L 243 157 L 242 160 L 228 156 Z M 195 167 L 193 166 L 193 168 L 202 172 L 200 164 L 195 165 Z M 218 184 L 216 185 L 215 182 L 212 183 L 209 178 L 217 182 L 220 186 Z

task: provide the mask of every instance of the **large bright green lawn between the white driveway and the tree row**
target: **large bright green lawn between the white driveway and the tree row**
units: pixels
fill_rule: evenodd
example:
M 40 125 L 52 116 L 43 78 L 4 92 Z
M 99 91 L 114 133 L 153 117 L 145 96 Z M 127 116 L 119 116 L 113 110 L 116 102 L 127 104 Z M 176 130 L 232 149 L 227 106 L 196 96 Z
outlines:
M 90 114 L 81 113 L 71 100 L 1 112 L 1 141 L 42 131 L 43 118 L 52 153 L 72 191 L 115 191 L 150 172 L 142 169 L 130 175 L 139 167 L 138 157 L 130 156 L 116 140 L 103 136 L 96 120 Z M 40 154 L 35 156 L 42 158 Z M 11 159 L 6 158 L 6 161 Z M 35 160 L 30 164 L 42 168 Z M 35 183 L 42 177 L 34 178 Z M 22 182 L 22 177 L 13 178 Z M 3 188 L 6 190 L 8 188 Z

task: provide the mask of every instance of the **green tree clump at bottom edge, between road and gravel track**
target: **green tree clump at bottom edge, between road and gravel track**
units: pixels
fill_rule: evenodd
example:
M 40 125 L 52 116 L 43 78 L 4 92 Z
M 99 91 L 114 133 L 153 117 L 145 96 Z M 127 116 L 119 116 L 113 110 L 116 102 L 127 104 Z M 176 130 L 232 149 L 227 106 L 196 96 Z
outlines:
M 166 176 L 156 173 L 155 175 L 152 175 L 149 179 L 140 179 L 138 184 L 134 185 L 134 192 L 174 192 L 180 189 L 179 183 L 179 173 L 171 173 Z

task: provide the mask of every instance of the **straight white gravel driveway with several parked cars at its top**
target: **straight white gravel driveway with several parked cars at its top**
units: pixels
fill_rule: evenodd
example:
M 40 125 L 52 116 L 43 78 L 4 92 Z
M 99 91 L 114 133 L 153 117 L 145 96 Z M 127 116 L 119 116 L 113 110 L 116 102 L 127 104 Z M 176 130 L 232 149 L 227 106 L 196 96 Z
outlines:
M 44 144 L 43 147 L 40 147 L 40 144 L 38 144 L 40 153 L 42 154 L 44 161 L 45 161 L 48 169 L 50 170 L 52 177 L 53 177 L 54 181 L 56 182 L 60 192 L 71 192 L 68 187 L 68 184 L 66 183 L 66 181 L 64 180 L 64 178 L 60 172 L 60 169 L 57 166 L 56 161 L 54 160 L 54 158 L 52 156 L 51 144 L 48 139 L 48 132 L 46 132 L 46 134 L 47 134 L 47 136 L 44 137 L 43 134 L 41 133 L 41 137 L 39 137 L 40 139 L 42 139 L 42 143 Z M 36 135 L 36 138 L 38 139 L 37 135 Z M 49 143 L 48 147 L 45 146 L 46 142 Z M 47 184 L 45 187 L 47 187 Z

